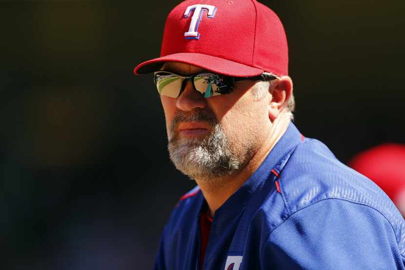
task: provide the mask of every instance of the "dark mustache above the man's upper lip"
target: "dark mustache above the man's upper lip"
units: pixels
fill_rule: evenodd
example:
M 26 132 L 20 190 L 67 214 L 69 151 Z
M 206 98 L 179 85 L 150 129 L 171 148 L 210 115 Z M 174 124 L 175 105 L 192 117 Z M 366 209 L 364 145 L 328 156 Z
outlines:
M 214 113 L 208 108 L 195 109 L 193 112 L 178 110 L 170 124 L 169 132 L 174 134 L 177 126 L 183 122 L 206 122 L 212 126 L 218 124 L 218 120 Z

